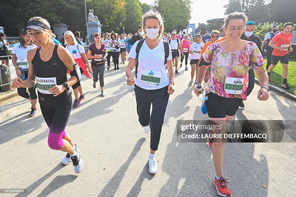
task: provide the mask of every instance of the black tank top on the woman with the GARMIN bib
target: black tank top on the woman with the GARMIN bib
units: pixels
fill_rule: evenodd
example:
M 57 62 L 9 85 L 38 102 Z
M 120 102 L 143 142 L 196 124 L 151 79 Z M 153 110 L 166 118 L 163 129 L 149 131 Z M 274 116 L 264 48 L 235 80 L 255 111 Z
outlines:
M 67 81 L 67 67 L 57 54 L 58 46 L 58 44 L 55 44 L 52 57 L 49 61 L 41 60 L 39 55 L 40 46 L 36 50 L 32 64 L 36 76 L 38 95 L 53 96 L 48 89 Z

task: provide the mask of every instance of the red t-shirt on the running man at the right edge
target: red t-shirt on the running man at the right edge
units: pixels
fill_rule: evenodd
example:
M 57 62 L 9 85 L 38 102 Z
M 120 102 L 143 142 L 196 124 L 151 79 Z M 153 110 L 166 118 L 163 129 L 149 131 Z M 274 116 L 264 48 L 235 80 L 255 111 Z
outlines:
M 289 45 L 291 43 L 293 34 L 289 32 L 288 35 L 284 34 L 284 32 L 280 32 L 271 39 L 272 42 L 275 42 L 275 45 L 278 47 L 285 47 L 285 51 L 281 51 L 277 48 L 274 48 L 274 51 L 272 52 L 272 55 L 274 56 L 284 56 L 289 53 Z

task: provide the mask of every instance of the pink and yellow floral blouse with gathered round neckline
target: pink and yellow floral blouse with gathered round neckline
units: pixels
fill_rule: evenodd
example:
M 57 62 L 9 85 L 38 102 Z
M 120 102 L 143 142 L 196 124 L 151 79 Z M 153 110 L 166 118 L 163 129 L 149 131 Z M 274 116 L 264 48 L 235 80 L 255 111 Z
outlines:
M 221 97 L 242 98 L 242 100 L 247 100 L 249 68 L 256 69 L 264 64 L 259 48 L 249 41 L 242 51 L 231 53 L 223 51 L 218 43 L 213 43 L 207 48 L 203 58 L 207 63 L 211 63 L 212 71 L 205 94 L 213 92 Z M 226 77 L 244 79 L 241 94 L 225 92 Z

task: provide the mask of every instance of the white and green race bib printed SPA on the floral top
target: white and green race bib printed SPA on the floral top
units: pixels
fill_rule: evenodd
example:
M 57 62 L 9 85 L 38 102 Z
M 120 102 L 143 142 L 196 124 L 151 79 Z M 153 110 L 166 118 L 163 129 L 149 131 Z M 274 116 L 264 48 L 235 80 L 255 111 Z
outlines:
M 226 77 L 224 90 L 228 94 L 242 94 L 244 78 Z

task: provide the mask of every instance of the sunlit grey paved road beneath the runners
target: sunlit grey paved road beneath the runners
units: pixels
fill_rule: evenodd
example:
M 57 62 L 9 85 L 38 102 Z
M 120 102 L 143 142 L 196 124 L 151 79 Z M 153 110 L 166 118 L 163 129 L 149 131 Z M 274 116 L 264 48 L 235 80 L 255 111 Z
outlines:
M 178 120 L 206 120 L 189 86 L 190 71 L 176 75 L 156 153 L 158 172 L 148 172 L 150 135 L 138 122 L 133 87 L 125 69 L 106 70 L 105 97 L 83 79 L 86 99 L 73 108 L 66 131 L 80 146 L 81 173 L 63 166 L 63 152 L 49 149 L 49 129 L 39 112 L 29 118 L 30 102 L 14 97 L 0 102 L 0 188 L 26 188 L 27 194 L 0 196 L 218 196 L 206 143 L 177 143 Z M 259 101 L 255 88 L 237 120 L 296 120 L 295 103 L 271 91 Z M 38 106 L 39 108 L 39 106 Z M 284 139 L 295 141 L 295 133 Z M 233 196 L 295 196 L 295 143 L 227 143 L 224 172 Z M 263 188 L 262 185 L 267 185 Z

